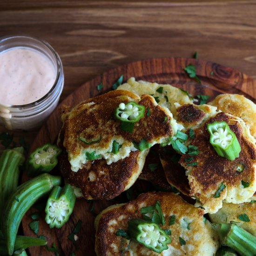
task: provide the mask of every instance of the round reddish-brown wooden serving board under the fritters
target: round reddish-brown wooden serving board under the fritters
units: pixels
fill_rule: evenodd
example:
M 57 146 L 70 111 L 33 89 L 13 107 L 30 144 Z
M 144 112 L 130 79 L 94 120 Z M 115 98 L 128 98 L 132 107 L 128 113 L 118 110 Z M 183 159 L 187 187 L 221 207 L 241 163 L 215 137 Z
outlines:
M 201 83 L 189 78 L 189 75 L 184 71 L 184 68 L 189 64 L 193 64 L 196 67 L 196 74 Z M 121 75 L 124 75 L 123 81 L 126 81 L 129 77 L 135 77 L 136 80 L 171 84 L 189 91 L 194 96 L 197 94 L 210 95 L 209 100 L 213 100 L 216 95 L 221 93 L 243 94 L 254 102 L 256 99 L 256 81 L 233 68 L 195 59 L 162 58 L 136 61 L 105 72 L 83 84 L 70 94 L 60 106 L 74 106 L 85 99 L 109 91 L 112 84 Z M 101 82 L 104 87 L 101 91 L 98 91 L 97 85 Z M 31 151 L 47 142 L 54 143 L 60 128 L 60 109 L 57 108 L 35 137 Z M 27 177 L 23 177 L 23 180 L 26 179 Z M 61 229 L 49 229 L 43 220 L 44 216 L 42 216 L 39 222 L 38 235 L 47 238 L 48 247 L 55 243 L 60 255 L 69 256 L 74 252 L 76 256 L 94 256 L 94 216 L 113 203 L 95 201 L 92 204 L 87 200 L 79 199 L 75 204 L 72 216 Z M 93 206 L 94 211 L 92 211 Z M 26 236 L 36 236 L 29 228 L 29 223 L 33 221 L 29 215 L 36 211 L 36 209 L 30 209 L 22 220 L 22 227 Z M 81 220 L 82 225 L 77 234 L 78 240 L 74 244 L 67 236 L 73 232 L 79 220 Z M 29 251 L 32 256 L 54 255 L 54 252 L 48 251 L 45 247 L 31 247 Z

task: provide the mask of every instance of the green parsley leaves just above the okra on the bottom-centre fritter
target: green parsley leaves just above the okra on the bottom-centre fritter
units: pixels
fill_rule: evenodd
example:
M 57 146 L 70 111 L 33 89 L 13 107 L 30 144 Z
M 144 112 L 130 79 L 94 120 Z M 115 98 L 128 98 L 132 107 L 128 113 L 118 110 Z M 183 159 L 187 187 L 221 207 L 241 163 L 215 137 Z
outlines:
M 164 216 L 163 216 L 161 205 L 160 205 L 159 201 L 157 201 L 155 205 L 142 208 L 141 213 L 143 215 L 143 218 L 146 221 L 154 222 L 157 224 L 162 223 L 162 225 L 165 223 Z M 148 213 L 152 213 L 151 218 L 146 215 Z

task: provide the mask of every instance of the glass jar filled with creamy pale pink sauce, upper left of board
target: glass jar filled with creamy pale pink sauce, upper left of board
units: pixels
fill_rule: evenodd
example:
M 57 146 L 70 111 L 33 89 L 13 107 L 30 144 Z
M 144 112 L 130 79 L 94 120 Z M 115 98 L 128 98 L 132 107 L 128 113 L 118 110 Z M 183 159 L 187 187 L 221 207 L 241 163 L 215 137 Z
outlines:
M 0 63 L 0 69 L 5 68 L 0 70 L 0 124 L 10 130 L 40 127 L 56 108 L 63 89 L 59 55 L 46 41 L 14 35 L 0 38 Z

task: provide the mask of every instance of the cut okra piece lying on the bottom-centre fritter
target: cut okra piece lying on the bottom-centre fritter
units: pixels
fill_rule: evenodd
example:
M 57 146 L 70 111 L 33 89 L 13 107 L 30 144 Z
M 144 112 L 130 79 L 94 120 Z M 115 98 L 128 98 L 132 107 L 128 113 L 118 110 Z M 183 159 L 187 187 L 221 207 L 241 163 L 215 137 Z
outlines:
M 168 243 L 171 243 L 171 238 L 158 224 L 141 219 L 128 221 L 128 233 L 138 243 L 157 253 L 168 249 Z

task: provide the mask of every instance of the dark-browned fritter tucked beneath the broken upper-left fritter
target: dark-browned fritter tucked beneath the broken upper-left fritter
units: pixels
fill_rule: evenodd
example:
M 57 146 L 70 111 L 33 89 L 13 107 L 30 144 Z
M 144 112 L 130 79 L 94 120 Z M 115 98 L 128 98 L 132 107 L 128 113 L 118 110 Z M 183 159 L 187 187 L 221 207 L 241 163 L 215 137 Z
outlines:
M 73 172 L 65 153 L 60 157 L 61 174 L 70 184 L 81 188 L 84 198 L 110 200 L 120 195 L 139 172 L 139 154 L 138 150 L 131 152 L 128 157 L 110 165 L 103 159 L 87 162 L 78 172 Z M 96 179 L 91 181 L 90 175 Z

